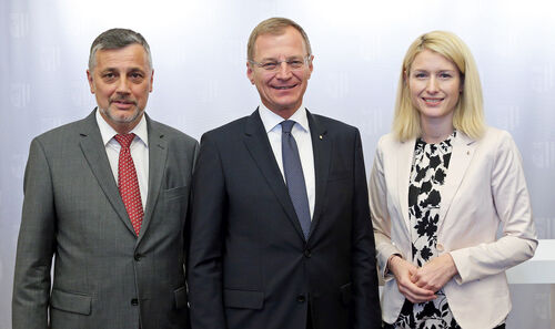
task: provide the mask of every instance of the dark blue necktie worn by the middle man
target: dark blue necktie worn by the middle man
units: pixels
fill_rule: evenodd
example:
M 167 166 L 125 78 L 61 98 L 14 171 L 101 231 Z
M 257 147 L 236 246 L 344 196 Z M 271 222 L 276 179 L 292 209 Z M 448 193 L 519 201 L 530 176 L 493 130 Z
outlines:
M 309 238 L 311 229 L 311 212 L 309 207 L 309 197 L 306 195 L 306 185 L 304 184 L 303 167 L 299 156 L 295 137 L 291 134 L 291 130 L 295 124 L 294 121 L 286 120 L 281 123 L 281 150 L 283 157 L 283 173 L 287 184 L 289 196 L 295 208 L 296 217 L 301 223 L 304 238 Z

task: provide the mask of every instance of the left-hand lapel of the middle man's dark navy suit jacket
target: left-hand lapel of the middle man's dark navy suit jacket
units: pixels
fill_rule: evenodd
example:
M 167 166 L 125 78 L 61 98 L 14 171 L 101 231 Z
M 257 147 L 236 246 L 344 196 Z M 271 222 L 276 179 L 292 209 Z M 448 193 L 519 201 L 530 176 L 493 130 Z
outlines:
M 256 163 L 256 166 L 266 179 L 268 185 L 270 185 L 284 212 L 287 214 L 291 224 L 295 227 L 301 238 L 304 239 L 301 224 L 296 218 L 293 203 L 291 202 L 287 187 L 283 181 L 283 175 L 275 162 L 276 160 L 270 141 L 268 140 L 262 120 L 260 119 L 259 110 L 254 111 L 254 113 L 246 119 L 244 143 L 246 150 L 249 150 L 249 153 Z

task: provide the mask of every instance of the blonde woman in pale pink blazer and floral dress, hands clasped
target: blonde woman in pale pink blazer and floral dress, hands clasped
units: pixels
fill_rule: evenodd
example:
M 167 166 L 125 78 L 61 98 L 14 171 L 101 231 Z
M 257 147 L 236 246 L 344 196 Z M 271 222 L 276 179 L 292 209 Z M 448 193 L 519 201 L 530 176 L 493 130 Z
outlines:
M 385 328 L 505 327 L 505 270 L 534 255 L 536 233 L 518 150 L 485 125 L 476 64 L 453 33 L 408 48 L 370 194 Z

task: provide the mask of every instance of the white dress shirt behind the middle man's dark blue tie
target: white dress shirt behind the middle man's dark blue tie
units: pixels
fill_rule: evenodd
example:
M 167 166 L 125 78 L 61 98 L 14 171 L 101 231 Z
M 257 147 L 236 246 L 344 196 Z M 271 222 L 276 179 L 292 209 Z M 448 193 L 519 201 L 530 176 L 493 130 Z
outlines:
M 285 174 L 283 173 L 283 158 L 281 148 L 281 122 L 283 117 L 270 111 L 263 104 L 259 106 L 260 119 L 268 133 L 268 140 L 280 167 L 283 181 Z M 306 116 L 306 109 L 301 105 L 299 110 L 289 119 L 295 122 L 291 134 L 295 138 L 296 147 L 299 148 L 299 156 L 301 158 L 301 166 L 303 167 L 304 184 L 306 185 L 306 195 L 309 196 L 309 206 L 311 212 L 311 219 L 314 214 L 314 202 L 316 197 L 316 183 L 314 173 L 314 153 L 312 152 L 312 137 L 309 127 L 309 117 Z

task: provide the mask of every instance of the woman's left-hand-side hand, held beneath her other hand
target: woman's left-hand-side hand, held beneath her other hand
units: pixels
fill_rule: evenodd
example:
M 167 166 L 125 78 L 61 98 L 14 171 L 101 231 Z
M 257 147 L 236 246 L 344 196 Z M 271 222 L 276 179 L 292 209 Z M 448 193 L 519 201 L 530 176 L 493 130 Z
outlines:
M 424 302 L 437 298 L 435 291 L 416 286 L 411 278 L 417 274 L 418 268 L 404 260 L 397 255 L 393 255 L 387 261 L 387 268 L 395 276 L 398 291 L 412 302 Z

